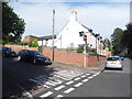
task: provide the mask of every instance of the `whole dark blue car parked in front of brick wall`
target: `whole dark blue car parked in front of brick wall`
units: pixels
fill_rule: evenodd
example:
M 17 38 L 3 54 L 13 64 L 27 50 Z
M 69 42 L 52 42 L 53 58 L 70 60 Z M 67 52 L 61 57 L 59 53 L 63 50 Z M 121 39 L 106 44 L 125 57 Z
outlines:
M 18 53 L 18 61 L 25 61 L 33 64 L 45 64 L 52 65 L 52 62 L 48 57 L 43 56 L 40 52 L 22 50 Z

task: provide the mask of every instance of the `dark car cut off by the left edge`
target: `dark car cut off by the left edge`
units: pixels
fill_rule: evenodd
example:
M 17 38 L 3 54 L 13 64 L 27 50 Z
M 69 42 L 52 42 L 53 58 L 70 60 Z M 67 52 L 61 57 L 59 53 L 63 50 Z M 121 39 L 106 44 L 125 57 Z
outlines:
M 2 56 L 16 56 L 16 53 L 11 47 L 0 47 L 0 52 L 2 52 Z

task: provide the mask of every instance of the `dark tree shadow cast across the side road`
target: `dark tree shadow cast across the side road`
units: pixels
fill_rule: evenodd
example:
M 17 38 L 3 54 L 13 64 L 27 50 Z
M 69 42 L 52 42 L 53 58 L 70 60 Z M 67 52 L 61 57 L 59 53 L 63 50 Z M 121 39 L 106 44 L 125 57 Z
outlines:
M 44 90 L 46 87 L 43 85 L 53 77 L 54 72 L 56 70 L 52 66 L 18 62 L 11 57 L 2 58 L 2 97 L 18 98 L 40 88 Z

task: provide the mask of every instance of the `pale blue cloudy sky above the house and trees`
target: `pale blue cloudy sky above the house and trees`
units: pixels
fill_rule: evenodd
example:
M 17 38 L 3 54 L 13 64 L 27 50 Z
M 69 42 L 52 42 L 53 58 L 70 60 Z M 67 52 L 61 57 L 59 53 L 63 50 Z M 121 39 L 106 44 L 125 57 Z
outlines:
M 116 28 L 124 30 L 130 21 L 130 0 L 23 0 L 9 4 L 26 23 L 23 36 L 52 35 L 53 9 L 55 34 L 69 21 L 72 9 L 77 11 L 79 23 L 92 29 L 94 33 L 99 33 L 103 38 L 110 37 Z

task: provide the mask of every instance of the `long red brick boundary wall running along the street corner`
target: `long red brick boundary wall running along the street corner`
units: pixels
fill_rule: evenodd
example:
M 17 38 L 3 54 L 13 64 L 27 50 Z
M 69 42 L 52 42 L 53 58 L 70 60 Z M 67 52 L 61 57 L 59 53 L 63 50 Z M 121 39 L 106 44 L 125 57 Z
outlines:
M 21 46 L 21 45 L 4 45 L 8 47 L 11 47 L 14 50 L 16 53 L 21 50 L 32 50 L 32 51 L 38 51 L 38 47 L 29 47 L 26 46 Z M 52 59 L 52 48 L 43 46 L 43 55 L 47 56 Z M 64 64 L 70 64 L 75 66 L 84 66 L 84 54 L 78 54 L 75 52 L 67 52 L 65 50 L 54 50 L 54 61 L 57 63 L 64 63 Z M 95 56 L 95 55 L 86 55 L 86 66 L 87 67 L 92 67 L 97 66 L 101 63 L 106 62 L 106 56 Z

